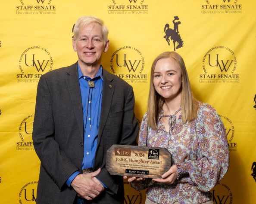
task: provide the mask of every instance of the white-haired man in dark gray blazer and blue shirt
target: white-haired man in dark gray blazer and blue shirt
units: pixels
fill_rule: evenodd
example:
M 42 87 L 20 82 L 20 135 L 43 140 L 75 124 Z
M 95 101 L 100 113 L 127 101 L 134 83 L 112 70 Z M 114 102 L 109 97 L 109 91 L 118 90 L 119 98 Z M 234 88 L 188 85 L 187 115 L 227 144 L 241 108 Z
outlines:
M 74 27 L 78 62 L 43 76 L 37 87 L 34 148 L 41 160 L 38 204 L 123 204 L 120 176 L 105 168 L 113 144 L 134 145 L 138 125 L 128 83 L 101 66 L 108 30 L 84 16 Z

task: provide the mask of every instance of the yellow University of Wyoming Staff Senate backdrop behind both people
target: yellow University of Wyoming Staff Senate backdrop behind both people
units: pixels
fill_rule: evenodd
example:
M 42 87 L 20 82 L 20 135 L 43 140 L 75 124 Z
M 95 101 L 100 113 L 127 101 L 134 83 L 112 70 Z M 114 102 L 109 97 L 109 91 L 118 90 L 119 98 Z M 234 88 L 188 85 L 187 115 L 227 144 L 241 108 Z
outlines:
M 0 7 L 0 203 L 36 202 L 37 82 L 77 60 L 72 27 L 82 15 L 109 27 L 103 66 L 134 87 L 139 120 L 153 59 L 174 49 L 183 56 L 195 96 L 215 107 L 228 134 L 230 167 L 212 191 L 214 203 L 255 203 L 256 1 L 12 0 Z M 125 204 L 144 199 L 125 182 Z

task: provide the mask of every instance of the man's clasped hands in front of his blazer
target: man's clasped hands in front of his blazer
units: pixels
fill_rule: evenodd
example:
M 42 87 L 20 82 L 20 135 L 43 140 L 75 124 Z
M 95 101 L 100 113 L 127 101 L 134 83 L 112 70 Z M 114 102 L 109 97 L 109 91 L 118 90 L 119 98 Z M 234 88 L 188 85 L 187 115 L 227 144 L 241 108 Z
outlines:
M 100 169 L 92 173 L 78 174 L 72 181 L 71 186 L 77 192 L 78 196 L 86 200 L 92 200 L 96 198 L 101 192 L 103 192 L 104 187 L 97 180 L 96 177 L 100 173 Z

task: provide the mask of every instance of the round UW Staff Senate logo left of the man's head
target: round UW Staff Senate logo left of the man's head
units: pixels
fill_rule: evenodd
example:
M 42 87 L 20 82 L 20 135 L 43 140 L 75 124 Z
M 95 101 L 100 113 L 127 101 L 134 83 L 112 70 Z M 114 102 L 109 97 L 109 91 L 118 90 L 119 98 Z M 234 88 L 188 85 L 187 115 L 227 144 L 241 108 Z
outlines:
M 38 82 L 42 74 L 51 71 L 53 58 L 50 52 L 41 46 L 32 46 L 25 49 L 19 58 L 19 70 L 16 75 L 17 82 Z

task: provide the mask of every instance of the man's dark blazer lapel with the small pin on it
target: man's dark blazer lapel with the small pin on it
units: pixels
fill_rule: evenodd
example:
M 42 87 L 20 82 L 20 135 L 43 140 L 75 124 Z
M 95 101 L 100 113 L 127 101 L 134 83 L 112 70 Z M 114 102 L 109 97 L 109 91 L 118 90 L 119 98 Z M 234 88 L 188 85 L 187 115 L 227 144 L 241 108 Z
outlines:
M 103 128 L 109 116 L 109 111 L 112 104 L 112 97 L 115 90 L 115 86 L 112 84 L 113 78 L 111 74 L 109 74 L 108 71 L 104 69 L 102 69 L 102 71 L 103 71 L 103 91 L 102 91 L 100 127 L 99 127 L 99 134 L 98 134 L 98 140 L 97 140 L 97 147 L 100 143 Z

